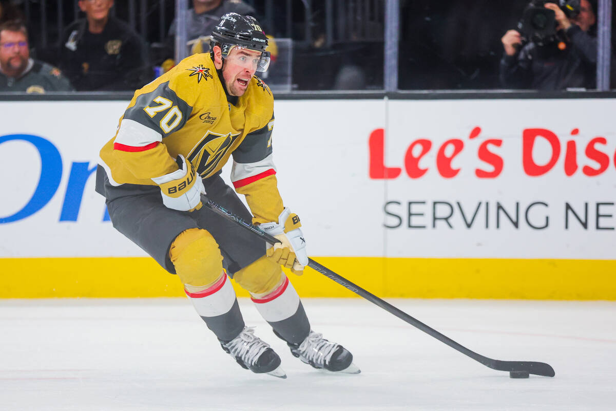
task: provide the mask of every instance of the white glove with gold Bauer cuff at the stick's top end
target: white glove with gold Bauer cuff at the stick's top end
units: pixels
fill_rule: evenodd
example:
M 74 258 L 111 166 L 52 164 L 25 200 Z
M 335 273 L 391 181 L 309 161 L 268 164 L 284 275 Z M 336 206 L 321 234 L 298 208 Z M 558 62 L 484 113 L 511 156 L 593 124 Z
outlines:
M 164 176 L 154 177 L 153 182 L 160 186 L 163 204 L 178 211 L 199 210 L 201 193 L 205 194 L 203 181 L 195 168 L 182 155 L 176 158 L 179 169 Z

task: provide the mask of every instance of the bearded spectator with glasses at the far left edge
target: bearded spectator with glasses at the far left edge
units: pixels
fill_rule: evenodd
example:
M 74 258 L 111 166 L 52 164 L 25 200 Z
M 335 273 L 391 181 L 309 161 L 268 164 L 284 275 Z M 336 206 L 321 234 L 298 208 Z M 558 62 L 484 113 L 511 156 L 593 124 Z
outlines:
M 13 21 L 0 24 L 0 91 L 44 94 L 73 87 L 60 70 L 30 58 L 26 26 Z

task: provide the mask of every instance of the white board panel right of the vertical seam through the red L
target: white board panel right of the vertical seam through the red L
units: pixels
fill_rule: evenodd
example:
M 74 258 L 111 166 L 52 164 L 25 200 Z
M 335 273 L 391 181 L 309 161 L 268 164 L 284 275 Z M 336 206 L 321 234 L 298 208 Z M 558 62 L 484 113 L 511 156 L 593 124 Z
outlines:
M 388 256 L 615 259 L 612 112 L 600 99 L 390 101 Z

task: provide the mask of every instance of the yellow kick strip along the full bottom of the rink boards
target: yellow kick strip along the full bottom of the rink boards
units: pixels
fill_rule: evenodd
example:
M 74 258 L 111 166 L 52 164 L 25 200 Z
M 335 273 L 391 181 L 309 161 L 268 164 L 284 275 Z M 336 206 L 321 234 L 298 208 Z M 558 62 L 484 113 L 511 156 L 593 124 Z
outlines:
M 616 300 L 616 260 L 315 257 L 379 297 Z M 184 296 L 152 258 L 1 258 L 0 298 Z M 302 297 L 354 293 L 307 268 Z M 238 296 L 248 293 L 233 283 Z

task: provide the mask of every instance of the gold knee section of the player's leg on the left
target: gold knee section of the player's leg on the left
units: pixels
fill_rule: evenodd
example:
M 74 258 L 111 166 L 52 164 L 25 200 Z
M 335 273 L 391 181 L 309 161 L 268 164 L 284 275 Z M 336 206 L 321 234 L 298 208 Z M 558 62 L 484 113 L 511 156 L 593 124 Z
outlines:
M 171 243 L 169 258 L 184 285 L 206 287 L 221 277 L 221 251 L 206 230 L 182 231 Z

